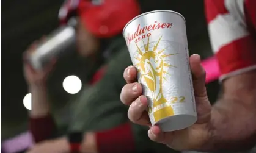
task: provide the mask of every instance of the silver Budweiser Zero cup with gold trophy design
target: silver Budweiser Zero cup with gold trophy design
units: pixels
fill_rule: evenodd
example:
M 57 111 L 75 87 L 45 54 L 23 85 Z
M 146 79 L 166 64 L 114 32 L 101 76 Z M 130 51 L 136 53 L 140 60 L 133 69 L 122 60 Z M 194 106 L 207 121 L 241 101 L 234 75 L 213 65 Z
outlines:
M 164 132 L 197 120 L 185 18 L 156 10 L 133 18 L 123 29 L 137 78 L 148 99 L 152 125 Z

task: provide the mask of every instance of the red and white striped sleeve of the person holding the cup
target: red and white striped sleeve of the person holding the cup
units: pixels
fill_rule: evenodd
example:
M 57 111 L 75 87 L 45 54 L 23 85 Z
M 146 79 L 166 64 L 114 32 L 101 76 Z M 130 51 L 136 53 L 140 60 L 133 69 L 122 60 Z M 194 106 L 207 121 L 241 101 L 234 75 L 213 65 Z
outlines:
M 256 0 L 205 0 L 220 80 L 256 69 Z

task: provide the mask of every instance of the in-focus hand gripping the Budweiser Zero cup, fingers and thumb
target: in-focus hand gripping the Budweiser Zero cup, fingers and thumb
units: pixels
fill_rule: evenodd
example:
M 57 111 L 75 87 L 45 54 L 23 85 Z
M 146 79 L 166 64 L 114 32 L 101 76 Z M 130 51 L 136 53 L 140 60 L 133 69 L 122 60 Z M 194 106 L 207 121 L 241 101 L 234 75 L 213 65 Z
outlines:
M 205 70 L 200 64 L 200 56 L 194 54 L 190 57 L 190 65 L 193 76 L 194 94 L 197 106 L 197 122 L 191 127 L 174 132 L 161 132 L 159 126 L 151 127 L 148 117 L 147 98 L 142 96 L 142 86 L 136 82 L 136 69 L 130 66 L 125 69 L 123 77 L 126 84 L 120 95 L 123 104 L 130 105 L 128 118 L 136 124 L 150 126 L 148 137 L 158 143 L 167 144 L 175 150 L 197 150 L 209 139 L 208 123 L 211 119 L 211 105 L 208 101 L 205 88 Z

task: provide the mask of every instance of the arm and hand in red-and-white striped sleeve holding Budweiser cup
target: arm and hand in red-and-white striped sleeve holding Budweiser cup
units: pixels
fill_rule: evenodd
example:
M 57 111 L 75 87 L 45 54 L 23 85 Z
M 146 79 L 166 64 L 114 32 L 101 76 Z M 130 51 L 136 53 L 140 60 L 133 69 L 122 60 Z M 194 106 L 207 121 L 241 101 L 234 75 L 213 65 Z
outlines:
M 200 56 L 192 55 L 197 122 L 175 132 L 161 132 L 159 126 L 153 126 L 148 137 L 180 151 L 247 151 L 256 144 L 256 1 L 205 0 L 205 10 L 211 46 L 222 74 L 222 95 L 210 105 L 205 69 Z M 136 69 L 126 68 L 124 77 L 128 84 L 121 99 L 130 105 L 130 120 L 151 126 L 145 112 L 147 98 L 142 96 L 141 84 L 135 82 Z

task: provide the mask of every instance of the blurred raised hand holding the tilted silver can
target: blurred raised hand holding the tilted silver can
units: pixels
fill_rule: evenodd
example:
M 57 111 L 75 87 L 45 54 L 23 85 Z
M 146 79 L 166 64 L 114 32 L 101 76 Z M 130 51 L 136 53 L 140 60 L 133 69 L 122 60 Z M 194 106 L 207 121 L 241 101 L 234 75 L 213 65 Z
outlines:
M 40 41 L 45 41 L 45 38 L 42 37 Z M 53 69 L 54 64 L 56 63 L 56 59 L 52 59 L 51 62 L 45 66 L 45 68 L 41 70 L 36 70 L 32 68 L 32 66 L 28 62 L 29 54 L 32 54 L 35 48 L 37 48 L 38 41 L 29 46 L 26 52 L 23 55 L 23 65 L 24 65 L 24 77 L 29 86 L 41 86 L 45 85 L 46 79 L 48 77 L 49 72 Z

